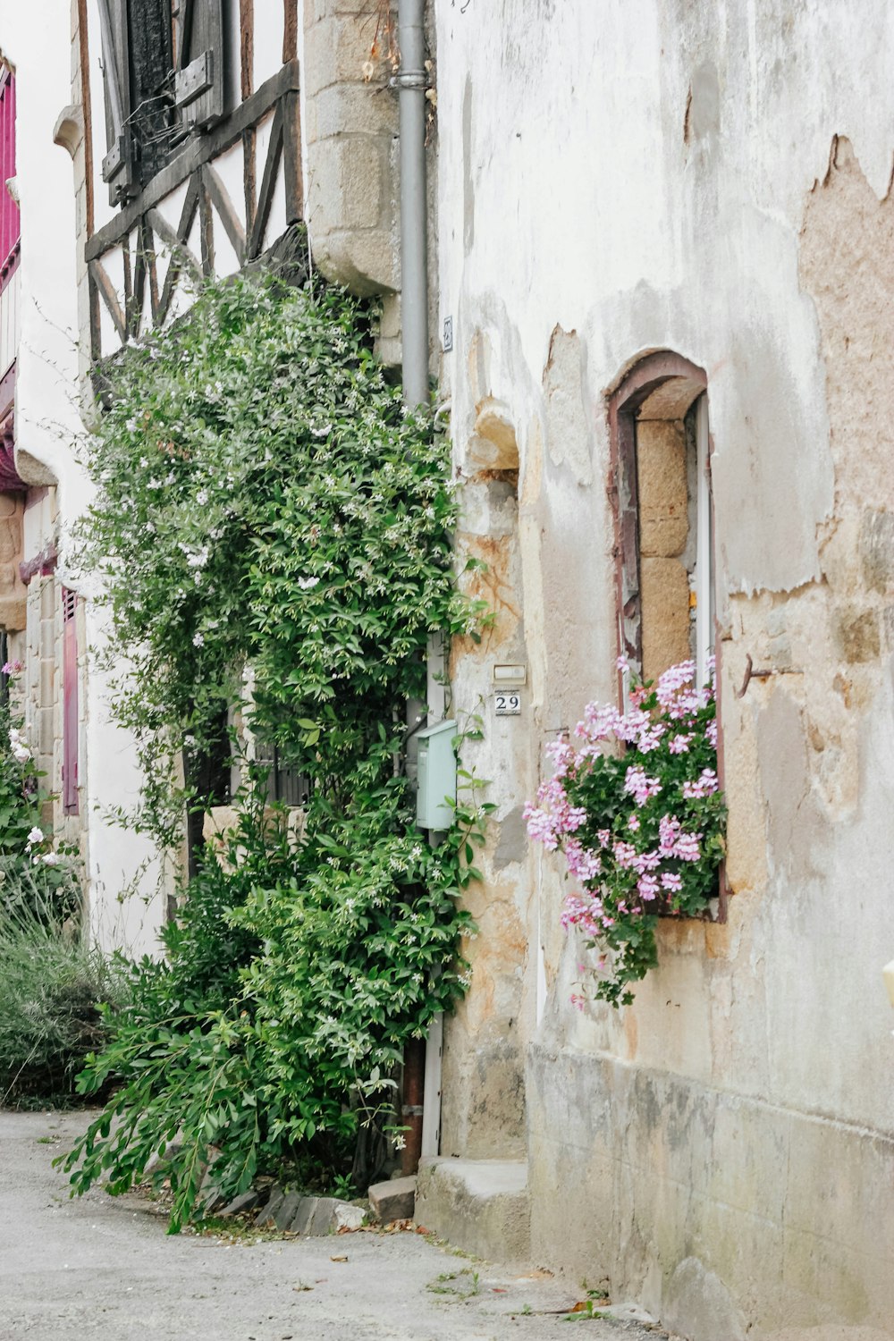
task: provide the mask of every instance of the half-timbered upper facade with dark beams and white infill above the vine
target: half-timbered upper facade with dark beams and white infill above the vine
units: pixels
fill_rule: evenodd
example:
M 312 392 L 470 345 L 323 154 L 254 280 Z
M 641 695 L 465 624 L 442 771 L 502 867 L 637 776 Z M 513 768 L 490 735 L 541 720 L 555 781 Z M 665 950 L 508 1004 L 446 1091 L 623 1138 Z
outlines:
M 298 8 L 88 0 L 90 349 L 182 311 L 303 215 Z

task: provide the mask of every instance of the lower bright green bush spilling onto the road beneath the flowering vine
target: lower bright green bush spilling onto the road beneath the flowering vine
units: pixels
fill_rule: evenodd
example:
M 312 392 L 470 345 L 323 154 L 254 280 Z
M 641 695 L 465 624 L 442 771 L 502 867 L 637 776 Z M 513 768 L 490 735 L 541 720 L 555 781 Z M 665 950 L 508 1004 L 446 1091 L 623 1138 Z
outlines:
M 399 793 L 298 852 L 269 815 L 243 817 L 227 866 L 190 884 L 168 961 L 134 966 L 126 1007 L 106 1014 L 111 1039 L 79 1089 L 121 1088 L 66 1161 L 75 1191 L 101 1176 L 126 1191 L 177 1137 L 176 1232 L 209 1163 L 236 1195 L 320 1144 L 347 1152 L 390 1112 L 403 1045 L 464 990 L 452 959 L 470 925 L 454 852 L 401 831 Z

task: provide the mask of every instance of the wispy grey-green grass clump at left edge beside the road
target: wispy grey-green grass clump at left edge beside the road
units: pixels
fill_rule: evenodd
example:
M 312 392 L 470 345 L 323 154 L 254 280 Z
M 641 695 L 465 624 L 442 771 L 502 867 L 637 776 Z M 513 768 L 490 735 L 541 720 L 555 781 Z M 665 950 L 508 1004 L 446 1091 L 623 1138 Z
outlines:
M 39 873 L 3 873 L 0 1105 L 74 1093 L 103 1042 L 99 1003 L 121 995 L 114 964 L 84 941 L 70 907 L 70 892 L 47 889 Z

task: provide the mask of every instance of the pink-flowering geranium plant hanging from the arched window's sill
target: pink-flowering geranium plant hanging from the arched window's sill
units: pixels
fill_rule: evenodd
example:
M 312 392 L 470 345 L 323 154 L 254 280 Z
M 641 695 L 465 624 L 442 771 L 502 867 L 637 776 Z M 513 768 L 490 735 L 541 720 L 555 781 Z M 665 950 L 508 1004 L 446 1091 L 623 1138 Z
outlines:
M 658 915 L 701 916 L 717 893 L 726 807 L 716 703 L 694 673 L 684 661 L 654 687 L 634 687 L 627 712 L 587 704 L 582 744 L 547 747 L 554 776 L 525 807 L 531 837 L 560 846 L 580 882 L 562 920 L 602 952 L 595 995 L 613 1006 L 629 1004 L 630 983 L 658 963 Z

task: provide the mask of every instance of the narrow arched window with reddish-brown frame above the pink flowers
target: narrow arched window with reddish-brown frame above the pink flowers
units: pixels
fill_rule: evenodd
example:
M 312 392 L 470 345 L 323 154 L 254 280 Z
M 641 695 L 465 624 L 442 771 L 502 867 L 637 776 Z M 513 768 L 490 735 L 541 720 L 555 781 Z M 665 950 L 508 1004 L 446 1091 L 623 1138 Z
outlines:
M 646 680 L 714 646 L 708 380 L 647 354 L 609 401 L 617 492 L 619 646 Z

